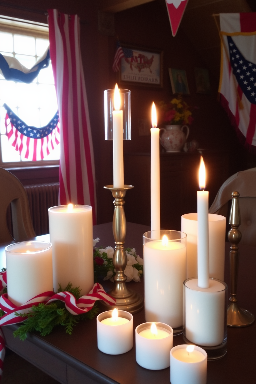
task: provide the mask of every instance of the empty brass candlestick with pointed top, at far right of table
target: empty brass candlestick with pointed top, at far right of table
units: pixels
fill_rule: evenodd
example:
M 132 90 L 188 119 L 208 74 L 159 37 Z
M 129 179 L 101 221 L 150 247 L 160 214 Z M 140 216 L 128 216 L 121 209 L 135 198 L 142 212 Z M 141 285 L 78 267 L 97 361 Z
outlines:
M 238 227 L 241 224 L 240 211 L 238 203 L 238 192 L 232 193 L 232 205 L 230 211 L 229 224 L 231 230 L 228 232 L 228 240 L 231 243 L 230 247 L 230 277 L 231 277 L 231 297 L 228 306 L 228 326 L 229 327 L 246 327 L 254 322 L 254 316 L 251 312 L 239 308 L 238 300 L 236 298 L 237 278 L 238 278 L 238 263 L 239 251 L 238 243 L 241 240 L 241 232 Z

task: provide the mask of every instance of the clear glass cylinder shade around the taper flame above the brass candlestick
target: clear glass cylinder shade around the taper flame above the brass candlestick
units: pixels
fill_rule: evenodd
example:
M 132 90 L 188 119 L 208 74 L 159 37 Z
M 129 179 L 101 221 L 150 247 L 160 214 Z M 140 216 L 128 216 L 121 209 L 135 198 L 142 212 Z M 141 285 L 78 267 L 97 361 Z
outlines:
M 115 89 L 104 91 L 105 140 L 113 140 L 113 109 Z M 130 91 L 119 89 L 121 96 L 120 110 L 123 111 L 123 140 L 130 140 Z

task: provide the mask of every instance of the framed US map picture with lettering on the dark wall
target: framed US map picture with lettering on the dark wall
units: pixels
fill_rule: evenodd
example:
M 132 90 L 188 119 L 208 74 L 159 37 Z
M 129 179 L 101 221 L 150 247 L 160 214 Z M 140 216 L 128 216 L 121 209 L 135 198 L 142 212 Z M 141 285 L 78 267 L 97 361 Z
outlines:
M 125 57 L 121 59 L 119 83 L 147 87 L 163 87 L 163 51 L 134 48 L 121 43 Z

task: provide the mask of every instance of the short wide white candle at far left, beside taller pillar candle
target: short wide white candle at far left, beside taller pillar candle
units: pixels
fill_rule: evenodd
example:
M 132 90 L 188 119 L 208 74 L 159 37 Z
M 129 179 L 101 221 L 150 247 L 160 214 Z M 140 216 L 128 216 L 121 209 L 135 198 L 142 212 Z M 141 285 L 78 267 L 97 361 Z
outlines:
M 51 243 L 27 241 L 5 248 L 8 299 L 19 306 L 53 290 Z

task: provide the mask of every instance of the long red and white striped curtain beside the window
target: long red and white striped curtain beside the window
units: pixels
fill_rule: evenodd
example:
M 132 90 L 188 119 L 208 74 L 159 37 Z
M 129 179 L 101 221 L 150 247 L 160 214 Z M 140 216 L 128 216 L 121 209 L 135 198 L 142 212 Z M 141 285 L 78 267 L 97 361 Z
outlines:
M 48 10 L 50 56 L 60 118 L 59 202 L 86 204 L 96 223 L 94 156 L 78 15 Z

